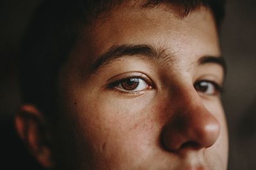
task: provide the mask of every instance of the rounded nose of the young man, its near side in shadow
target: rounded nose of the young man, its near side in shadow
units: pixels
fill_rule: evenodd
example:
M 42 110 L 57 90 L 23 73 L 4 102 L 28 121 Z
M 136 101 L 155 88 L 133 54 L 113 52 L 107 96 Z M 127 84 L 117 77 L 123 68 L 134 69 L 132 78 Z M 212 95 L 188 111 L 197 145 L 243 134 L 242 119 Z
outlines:
M 196 98 L 196 99 L 195 99 Z M 200 97 L 183 98 L 170 122 L 164 125 L 163 147 L 172 152 L 212 146 L 220 134 L 220 123 L 202 104 Z

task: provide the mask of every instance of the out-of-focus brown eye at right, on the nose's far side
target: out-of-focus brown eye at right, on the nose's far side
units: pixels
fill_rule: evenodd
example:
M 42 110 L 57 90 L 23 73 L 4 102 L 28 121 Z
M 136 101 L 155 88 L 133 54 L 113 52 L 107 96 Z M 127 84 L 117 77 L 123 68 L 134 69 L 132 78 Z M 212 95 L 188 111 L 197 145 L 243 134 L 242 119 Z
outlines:
M 212 81 L 197 81 L 194 87 L 196 91 L 206 95 L 215 95 L 221 91 L 220 85 Z

